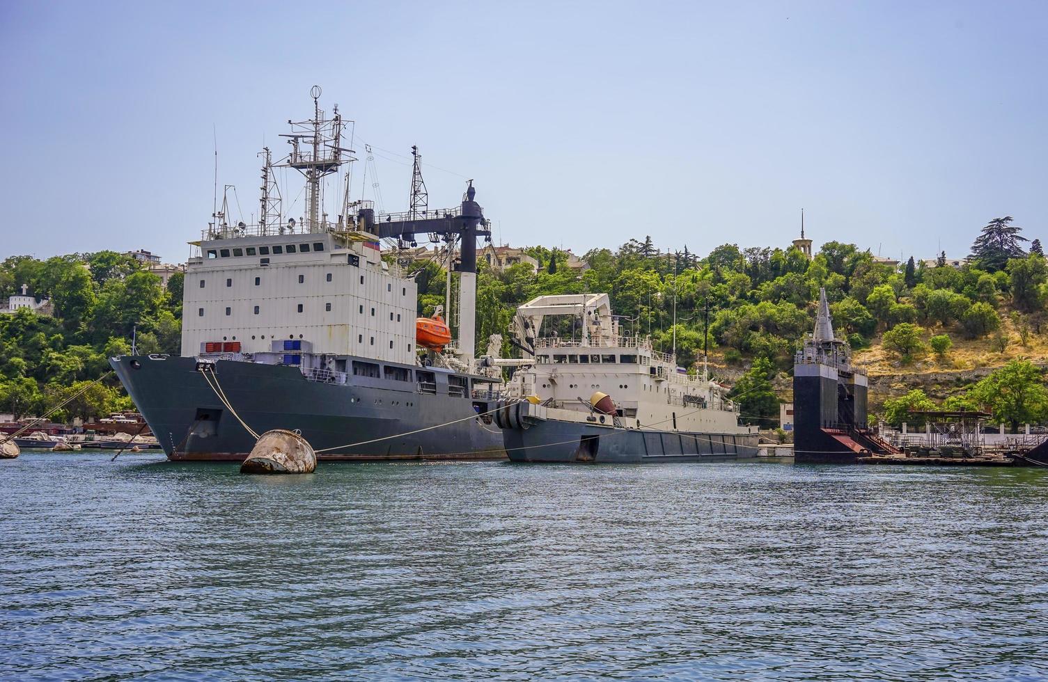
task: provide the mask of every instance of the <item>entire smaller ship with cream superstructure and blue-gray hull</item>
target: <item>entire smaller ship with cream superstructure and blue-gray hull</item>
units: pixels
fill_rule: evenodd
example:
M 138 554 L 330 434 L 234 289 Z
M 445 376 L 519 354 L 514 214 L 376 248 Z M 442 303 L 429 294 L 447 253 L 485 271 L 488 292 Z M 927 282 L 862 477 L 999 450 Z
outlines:
M 548 317 L 567 316 L 565 335 Z M 606 293 L 539 296 L 517 310 L 524 350 L 495 413 L 520 462 L 724 461 L 757 453 L 758 430 L 705 372 L 690 376 L 647 336 L 620 333 Z M 551 330 L 543 333 L 544 330 Z M 576 331 L 577 330 L 577 331 Z

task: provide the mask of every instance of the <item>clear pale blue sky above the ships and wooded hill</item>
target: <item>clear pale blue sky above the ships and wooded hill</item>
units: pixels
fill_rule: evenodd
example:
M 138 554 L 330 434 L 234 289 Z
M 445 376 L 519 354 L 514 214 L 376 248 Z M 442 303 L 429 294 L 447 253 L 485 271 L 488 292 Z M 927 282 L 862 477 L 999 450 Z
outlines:
M 816 248 L 963 256 L 1005 214 L 1048 237 L 1046 29 L 1043 2 L 8 1 L 0 257 L 184 260 L 213 127 L 257 214 L 313 84 L 460 174 L 424 169 L 431 206 L 475 178 L 511 244 L 784 245 L 804 206 Z M 410 169 L 376 163 L 403 210 Z

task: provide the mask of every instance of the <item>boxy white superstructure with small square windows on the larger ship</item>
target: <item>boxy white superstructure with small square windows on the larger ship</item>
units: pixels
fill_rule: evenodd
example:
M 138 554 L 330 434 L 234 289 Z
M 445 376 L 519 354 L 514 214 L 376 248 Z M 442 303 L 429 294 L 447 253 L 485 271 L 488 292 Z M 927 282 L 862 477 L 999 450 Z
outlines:
M 377 238 L 353 236 L 202 240 L 185 272 L 182 355 L 215 343 L 260 353 L 302 339 L 316 354 L 414 364 L 417 285 L 368 245 Z

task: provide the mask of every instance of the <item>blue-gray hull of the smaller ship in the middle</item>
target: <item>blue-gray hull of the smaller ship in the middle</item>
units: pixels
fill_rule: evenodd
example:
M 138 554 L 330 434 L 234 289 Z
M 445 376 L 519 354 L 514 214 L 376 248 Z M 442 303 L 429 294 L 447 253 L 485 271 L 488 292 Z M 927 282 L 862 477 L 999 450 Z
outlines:
M 549 419 L 503 431 L 515 462 L 651 464 L 730 462 L 757 456 L 757 434 L 689 434 Z

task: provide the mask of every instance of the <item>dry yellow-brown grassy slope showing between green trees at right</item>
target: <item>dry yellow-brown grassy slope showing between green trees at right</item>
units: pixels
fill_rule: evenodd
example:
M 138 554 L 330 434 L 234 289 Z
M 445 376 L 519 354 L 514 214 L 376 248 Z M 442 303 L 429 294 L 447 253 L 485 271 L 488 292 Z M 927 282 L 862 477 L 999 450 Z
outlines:
M 1011 320 L 1002 310 L 1002 326 L 1009 343 L 1003 353 L 997 349 L 994 336 L 966 339 L 956 329 L 943 330 L 938 327 L 925 328 L 924 342 L 935 334 L 946 333 L 954 347 L 943 361 L 929 351 L 915 358 L 910 365 L 902 365 L 894 353 L 880 347 L 880 335 L 873 339 L 873 346 L 854 354 L 854 362 L 864 368 L 870 377 L 870 410 L 878 412 L 887 398 L 902 395 L 913 389 L 922 389 L 932 399 L 941 401 L 947 396 L 961 393 L 970 384 L 983 378 L 1010 359 L 1023 357 L 1042 367 L 1048 366 L 1048 328 L 1043 334 L 1030 333 L 1028 345 L 1024 347 Z M 735 381 L 747 367 L 724 364 L 720 353 L 711 353 L 709 371 L 719 378 Z M 783 400 L 793 399 L 792 379 L 780 374 L 776 391 Z

